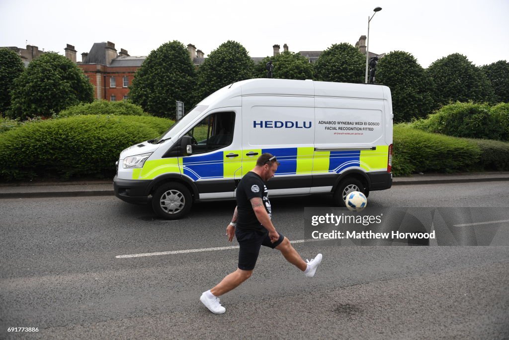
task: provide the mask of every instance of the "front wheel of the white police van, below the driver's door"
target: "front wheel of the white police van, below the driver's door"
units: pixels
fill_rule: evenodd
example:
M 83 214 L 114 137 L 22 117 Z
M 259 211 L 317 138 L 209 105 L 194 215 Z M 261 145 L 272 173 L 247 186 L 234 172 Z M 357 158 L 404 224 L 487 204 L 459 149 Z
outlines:
M 180 183 L 165 183 L 152 195 L 154 213 L 166 220 L 178 220 L 184 217 L 189 213 L 191 205 L 191 193 Z

